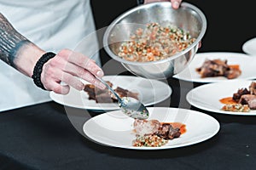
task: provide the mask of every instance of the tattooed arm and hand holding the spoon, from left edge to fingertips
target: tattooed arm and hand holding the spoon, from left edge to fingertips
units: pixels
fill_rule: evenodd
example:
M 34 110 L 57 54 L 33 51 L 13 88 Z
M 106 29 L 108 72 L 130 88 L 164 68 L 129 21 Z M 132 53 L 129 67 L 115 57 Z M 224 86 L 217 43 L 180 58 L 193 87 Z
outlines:
M 43 49 L 16 31 L 0 13 L 0 59 L 27 77 L 32 77 L 34 66 L 44 53 Z M 41 82 L 44 88 L 57 94 L 67 94 L 69 86 L 78 90 L 84 89 L 84 83 L 79 78 L 99 88 L 105 88 L 95 76 L 102 77 L 103 71 L 94 60 L 84 54 L 62 49 L 44 64 Z M 67 85 L 61 85 L 60 82 L 66 82 Z

